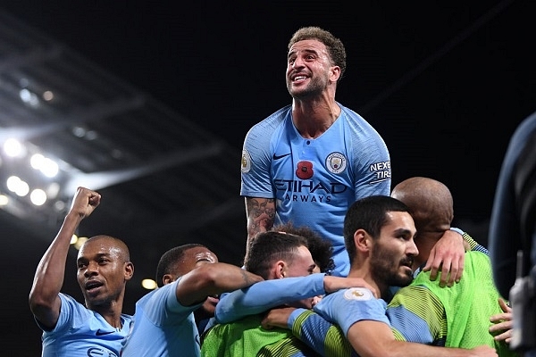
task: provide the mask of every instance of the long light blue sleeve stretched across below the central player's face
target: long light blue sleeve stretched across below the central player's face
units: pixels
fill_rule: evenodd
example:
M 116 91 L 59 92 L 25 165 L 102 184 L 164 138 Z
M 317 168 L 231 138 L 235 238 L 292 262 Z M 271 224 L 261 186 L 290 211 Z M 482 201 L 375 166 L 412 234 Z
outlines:
M 235 290 L 223 295 L 216 304 L 215 320 L 217 323 L 228 323 L 282 303 L 324 295 L 323 278 L 324 274 L 317 273 L 307 277 L 264 280 Z

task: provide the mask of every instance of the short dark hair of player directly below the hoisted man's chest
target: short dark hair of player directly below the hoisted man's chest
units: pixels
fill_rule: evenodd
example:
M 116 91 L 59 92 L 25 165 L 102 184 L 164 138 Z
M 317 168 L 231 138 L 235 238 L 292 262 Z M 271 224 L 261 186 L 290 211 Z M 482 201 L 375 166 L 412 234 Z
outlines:
M 247 271 L 268 279 L 272 262 L 292 262 L 297 249 L 302 245 L 308 247 L 305 237 L 273 230 L 258 233 L 249 245 L 244 267 Z

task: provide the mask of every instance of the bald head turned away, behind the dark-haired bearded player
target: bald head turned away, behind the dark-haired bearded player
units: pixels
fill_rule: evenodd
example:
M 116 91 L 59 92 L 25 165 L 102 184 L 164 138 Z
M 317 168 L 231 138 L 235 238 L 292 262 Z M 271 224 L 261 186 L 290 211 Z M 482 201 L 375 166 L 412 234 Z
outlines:
M 454 203 L 448 187 L 435 179 L 414 177 L 395 186 L 391 197 L 406 203 L 417 234 L 444 232 L 454 219 Z

